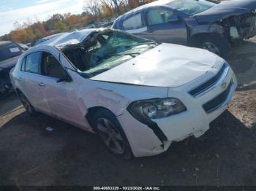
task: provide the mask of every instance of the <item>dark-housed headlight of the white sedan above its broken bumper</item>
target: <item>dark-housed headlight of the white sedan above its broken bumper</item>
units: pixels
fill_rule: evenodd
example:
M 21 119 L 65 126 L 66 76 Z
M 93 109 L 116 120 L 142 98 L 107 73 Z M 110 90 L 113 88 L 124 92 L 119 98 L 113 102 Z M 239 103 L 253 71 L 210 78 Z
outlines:
M 160 119 L 178 114 L 187 110 L 186 106 L 177 98 L 157 98 L 144 101 L 135 101 L 128 107 L 133 117 L 140 121 Z

